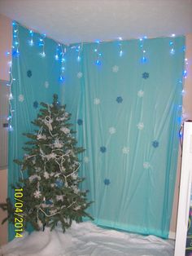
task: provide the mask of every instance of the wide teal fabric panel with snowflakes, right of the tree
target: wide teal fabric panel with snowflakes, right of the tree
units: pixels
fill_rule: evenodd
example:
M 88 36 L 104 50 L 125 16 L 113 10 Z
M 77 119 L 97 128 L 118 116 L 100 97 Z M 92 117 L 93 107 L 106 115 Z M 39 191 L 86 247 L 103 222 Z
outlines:
M 68 50 L 64 102 L 86 149 L 81 174 L 98 225 L 168 237 L 184 46 L 181 37 Z

